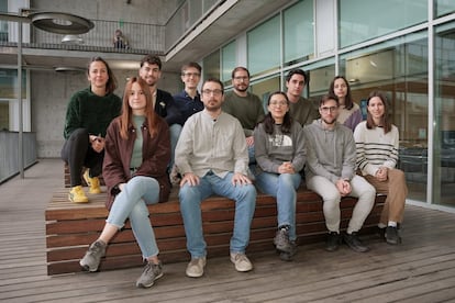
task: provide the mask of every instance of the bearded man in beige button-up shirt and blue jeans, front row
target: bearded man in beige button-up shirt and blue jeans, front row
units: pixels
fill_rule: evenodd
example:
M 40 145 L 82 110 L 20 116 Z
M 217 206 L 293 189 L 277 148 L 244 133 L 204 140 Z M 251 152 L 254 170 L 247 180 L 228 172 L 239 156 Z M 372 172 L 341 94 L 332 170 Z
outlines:
M 204 109 L 184 125 L 176 148 L 180 182 L 180 212 L 191 260 L 186 274 L 198 278 L 207 262 L 202 234 L 201 202 L 212 194 L 235 201 L 230 257 L 237 271 L 253 269 L 245 255 L 256 204 L 256 189 L 247 177 L 248 153 L 238 120 L 221 110 L 223 83 L 208 79 L 202 85 Z

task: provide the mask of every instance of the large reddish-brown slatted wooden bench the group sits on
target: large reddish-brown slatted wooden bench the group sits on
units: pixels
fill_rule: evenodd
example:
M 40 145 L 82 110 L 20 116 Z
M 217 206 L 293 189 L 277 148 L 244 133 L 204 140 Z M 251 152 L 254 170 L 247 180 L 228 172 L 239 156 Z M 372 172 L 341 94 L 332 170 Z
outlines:
M 88 245 L 96 240 L 104 225 L 108 211 L 104 207 L 106 193 L 88 194 L 90 203 L 76 204 L 67 199 L 67 189 L 54 193 L 46 212 L 46 254 L 47 273 L 58 274 L 80 271 L 79 259 Z M 323 240 L 326 235 L 321 198 L 304 187 L 297 198 L 297 235 L 300 245 Z M 371 233 L 379 221 L 385 197 L 377 197 L 363 234 Z M 342 228 L 345 228 L 352 215 L 356 199 L 343 198 Z M 229 254 L 233 228 L 234 202 L 211 197 L 202 202 L 202 221 L 208 256 Z M 164 262 L 186 261 L 184 223 L 180 215 L 177 190 L 174 189 L 169 202 L 149 205 L 151 222 L 159 247 L 159 258 Z M 277 228 L 276 201 L 273 197 L 258 194 L 256 210 L 251 228 L 251 242 L 247 252 L 275 249 L 273 238 Z M 140 248 L 134 239 L 131 226 L 118 233 L 108 246 L 100 269 L 129 268 L 142 265 Z

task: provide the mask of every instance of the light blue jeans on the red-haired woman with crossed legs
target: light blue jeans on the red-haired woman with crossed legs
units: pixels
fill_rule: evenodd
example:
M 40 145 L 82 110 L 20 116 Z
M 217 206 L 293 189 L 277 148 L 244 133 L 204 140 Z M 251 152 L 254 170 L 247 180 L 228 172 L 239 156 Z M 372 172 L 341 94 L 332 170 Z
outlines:
M 158 181 L 151 177 L 136 176 L 130 179 L 115 197 L 106 221 L 120 229 L 129 217 L 144 259 L 157 256 L 159 252 L 147 209 L 147 204 L 155 204 L 158 201 Z

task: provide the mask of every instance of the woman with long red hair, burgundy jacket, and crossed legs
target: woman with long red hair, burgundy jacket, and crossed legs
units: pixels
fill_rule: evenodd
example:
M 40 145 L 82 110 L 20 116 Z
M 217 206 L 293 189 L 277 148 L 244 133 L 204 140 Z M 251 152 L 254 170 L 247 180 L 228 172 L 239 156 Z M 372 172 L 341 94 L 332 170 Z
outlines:
M 108 127 L 103 178 L 110 210 L 104 228 L 80 260 L 87 271 L 97 271 L 112 237 L 130 218 L 145 265 L 136 281 L 149 288 L 163 276 L 158 247 L 148 217 L 148 204 L 167 201 L 170 159 L 169 128 L 153 109 L 153 98 L 144 80 L 133 77 L 125 87 L 122 114 Z

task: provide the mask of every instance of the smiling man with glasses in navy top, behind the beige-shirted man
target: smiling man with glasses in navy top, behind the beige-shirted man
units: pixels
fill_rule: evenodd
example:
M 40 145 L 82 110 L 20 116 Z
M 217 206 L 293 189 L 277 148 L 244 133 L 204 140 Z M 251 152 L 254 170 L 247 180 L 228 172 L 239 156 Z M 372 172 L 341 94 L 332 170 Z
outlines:
M 180 127 L 175 126 L 177 138 L 180 136 L 181 126 L 184 126 L 188 117 L 203 110 L 201 96 L 198 92 L 201 72 L 202 67 L 198 63 L 190 61 L 181 67 L 180 77 L 185 88 L 181 92 L 174 96 L 174 100 L 176 101 L 176 105 L 180 112 Z M 180 182 L 181 176 L 176 166 L 171 167 L 169 179 L 173 186 L 177 186 Z

